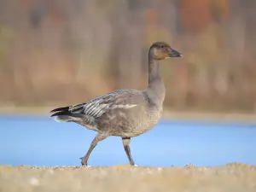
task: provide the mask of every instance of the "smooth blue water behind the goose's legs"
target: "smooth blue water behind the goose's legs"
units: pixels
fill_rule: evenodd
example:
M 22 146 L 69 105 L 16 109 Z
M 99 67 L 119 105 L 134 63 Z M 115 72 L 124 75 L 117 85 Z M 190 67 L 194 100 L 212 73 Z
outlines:
M 44 116 L 0 116 L 0 164 L 80 165 L 96 132 Z M 256 165 L 256 124 L 200 120 L 161 120 L 153 130 L 131 139 L 138 166 L 216 166 L 239 161 Z M 126 164 L 119 137 L 98 143 L 89 165 Z

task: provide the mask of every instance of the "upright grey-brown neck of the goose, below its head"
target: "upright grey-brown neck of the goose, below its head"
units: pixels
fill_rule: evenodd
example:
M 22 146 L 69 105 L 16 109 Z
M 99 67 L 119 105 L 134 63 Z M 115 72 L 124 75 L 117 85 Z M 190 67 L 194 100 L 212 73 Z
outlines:
M 154 60 L 148 55 L 148 96 L 155 101 L 159 101 L 160 104 L 165 99 L 166 87 L 164 81 L 160 75 L 160 64 L 159 61 Z

